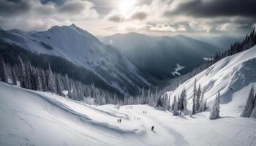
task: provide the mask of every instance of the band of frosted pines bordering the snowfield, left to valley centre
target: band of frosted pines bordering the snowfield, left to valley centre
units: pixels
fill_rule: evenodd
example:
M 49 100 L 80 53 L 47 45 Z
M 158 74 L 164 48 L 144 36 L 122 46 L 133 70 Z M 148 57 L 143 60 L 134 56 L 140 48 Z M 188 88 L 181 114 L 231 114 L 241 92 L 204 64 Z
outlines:
M 18 64 L 12 64 L 0 55 L 0 80 L 2 82 L 20 85 L 21 88 L 34 91 L 56 93 L 59 96 L 83 101 L 87 104 L 149 104 L 154 106 L 156 103 L 157 89 L 155 91 L 141 89 L 139 96 L 124 95 L 121 98 L 116 93 L 110 93 L 102 88 L 95 87 L 94 82 L 84 84 L 67 74 L 53 72 L 50 64 L 48 64 L 47 69 L 43 69 L 31 65 L 30 61 L 26 61 L 20 55 L 17 58 Z

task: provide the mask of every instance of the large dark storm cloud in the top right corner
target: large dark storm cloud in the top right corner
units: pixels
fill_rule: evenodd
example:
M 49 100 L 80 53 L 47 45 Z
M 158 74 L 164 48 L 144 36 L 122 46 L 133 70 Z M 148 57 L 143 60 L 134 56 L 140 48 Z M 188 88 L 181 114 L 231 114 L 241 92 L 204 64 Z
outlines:
M 164 15 L 189 15 L 195 18 L 255 17 L 255 6 L 255 0 L 192 0 L 179 3 L 176 9 L 166 11 Z

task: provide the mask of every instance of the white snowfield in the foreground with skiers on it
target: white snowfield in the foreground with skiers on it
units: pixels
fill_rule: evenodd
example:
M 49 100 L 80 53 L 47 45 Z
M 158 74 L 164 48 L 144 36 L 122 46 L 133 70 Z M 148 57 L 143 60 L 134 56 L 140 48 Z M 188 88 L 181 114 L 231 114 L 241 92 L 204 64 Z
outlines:
M 240 92 L 248 93 L 249 88 Z M 208 111 L 190 118 L 146 105 L 95 107 L 2 82 L 0 93 L 0 145 L 4 146 L 256 145 L 255 118 L 230 116 L 230 112 L 208 120 Z

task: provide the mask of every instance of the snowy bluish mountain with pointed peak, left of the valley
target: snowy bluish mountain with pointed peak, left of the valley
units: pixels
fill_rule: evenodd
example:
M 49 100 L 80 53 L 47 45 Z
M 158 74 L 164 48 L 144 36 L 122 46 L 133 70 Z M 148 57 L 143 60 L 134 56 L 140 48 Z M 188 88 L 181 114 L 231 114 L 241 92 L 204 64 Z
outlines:
M 56 55 L 83 66 L 121 93 L 136 93 L 138 87 L 150 85 L 146 74 L 140 72 L 118 50 L 102 44 L 99 39 L 74 24 L 54 26 L 40 32 L 1 29 L 0 39 L 33 53 Z

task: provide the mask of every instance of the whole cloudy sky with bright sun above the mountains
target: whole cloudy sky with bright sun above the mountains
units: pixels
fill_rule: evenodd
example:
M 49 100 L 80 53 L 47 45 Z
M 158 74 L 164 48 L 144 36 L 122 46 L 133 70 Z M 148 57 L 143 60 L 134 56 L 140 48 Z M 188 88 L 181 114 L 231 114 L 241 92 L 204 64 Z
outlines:
M 0 0 L 0 27 L 43 31 L 75 23 L 94 35 L 241 35 L 256 0 Z

